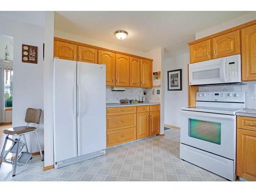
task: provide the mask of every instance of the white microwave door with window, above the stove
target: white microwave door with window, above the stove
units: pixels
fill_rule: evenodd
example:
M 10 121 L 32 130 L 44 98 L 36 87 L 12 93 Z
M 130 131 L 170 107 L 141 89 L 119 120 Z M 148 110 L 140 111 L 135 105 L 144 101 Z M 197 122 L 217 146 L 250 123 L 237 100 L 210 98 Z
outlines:
M 189 84 L 217 84 L 226 82 L 226 58 L 189 64 Z

